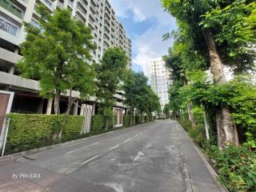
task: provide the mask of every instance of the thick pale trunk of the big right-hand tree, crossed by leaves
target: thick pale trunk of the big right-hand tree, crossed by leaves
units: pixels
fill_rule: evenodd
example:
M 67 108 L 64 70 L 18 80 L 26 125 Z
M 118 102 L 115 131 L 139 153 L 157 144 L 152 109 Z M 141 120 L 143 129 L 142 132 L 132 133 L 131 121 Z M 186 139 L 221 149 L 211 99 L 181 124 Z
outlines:
M 206 32 L 204 37 L 210 54 L 210 72 L 213 74 L 214 82 L 218 84 L 226 82 L 222 59 L 216 49 L 214 38 L 210 32 Z M 216 111 L 216 122 L 219 149 L 222 150 L 225 144 L 238 145 L 238 130 L 232 121 L 228 106 L 221 106 L 220 110 Z

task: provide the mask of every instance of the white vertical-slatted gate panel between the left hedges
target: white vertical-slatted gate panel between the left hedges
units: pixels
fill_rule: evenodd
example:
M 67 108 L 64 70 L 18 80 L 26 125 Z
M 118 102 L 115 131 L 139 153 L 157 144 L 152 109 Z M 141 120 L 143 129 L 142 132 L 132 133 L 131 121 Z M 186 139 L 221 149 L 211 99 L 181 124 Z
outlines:
M 93 106 L 82 104 L 80 115 L 83 115 L 85 118 L 83 121 L 81 134 L 86 134 L 90 132 L 90 120 L 92 112 Z

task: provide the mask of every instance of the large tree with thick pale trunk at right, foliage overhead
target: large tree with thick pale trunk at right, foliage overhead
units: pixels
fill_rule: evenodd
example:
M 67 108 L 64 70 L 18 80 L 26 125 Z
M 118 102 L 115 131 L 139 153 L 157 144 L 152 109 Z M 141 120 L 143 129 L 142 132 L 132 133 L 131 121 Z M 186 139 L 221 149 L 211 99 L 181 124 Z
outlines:
M 252 68 L 255 58 L 251 51 L 255 43 L 254 1 L 162 0 L 162 5 L 188 27 L 194 50 L 209 58 L 216 84 L 226 82 L 223 63 L 232 66 L 234 71 Z M 222 149 L 226 142 L 238 145 L 238 131 L 229 106 L 219 106 L 216 121 L 219 148 Z

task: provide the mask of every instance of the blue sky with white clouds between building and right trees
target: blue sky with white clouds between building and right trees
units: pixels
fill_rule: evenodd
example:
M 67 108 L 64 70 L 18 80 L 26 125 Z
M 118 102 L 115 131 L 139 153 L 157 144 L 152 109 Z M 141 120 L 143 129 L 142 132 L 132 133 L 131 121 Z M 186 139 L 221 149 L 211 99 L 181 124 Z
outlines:
M 171 41 L 162 34 L 175 29 L 174 18 L 166 13 L 160 0 L 110 0 L 111 6 L 133 43 L 133 69 L 149 73 L 149 62 L 166 54 Z

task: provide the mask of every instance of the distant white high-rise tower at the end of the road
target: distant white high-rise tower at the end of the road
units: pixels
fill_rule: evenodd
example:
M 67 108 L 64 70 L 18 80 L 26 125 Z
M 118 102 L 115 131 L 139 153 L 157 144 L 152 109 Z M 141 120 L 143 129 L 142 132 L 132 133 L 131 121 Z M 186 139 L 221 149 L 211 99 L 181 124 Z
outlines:
M 150 61 L 150 85 L 160 98 L 161 110 L 169 102 L 168 87 L 170 85 L 170 70 L 162 58 Z

